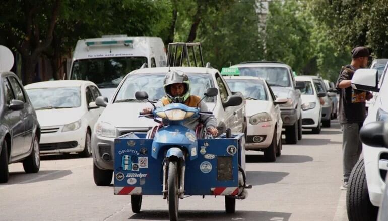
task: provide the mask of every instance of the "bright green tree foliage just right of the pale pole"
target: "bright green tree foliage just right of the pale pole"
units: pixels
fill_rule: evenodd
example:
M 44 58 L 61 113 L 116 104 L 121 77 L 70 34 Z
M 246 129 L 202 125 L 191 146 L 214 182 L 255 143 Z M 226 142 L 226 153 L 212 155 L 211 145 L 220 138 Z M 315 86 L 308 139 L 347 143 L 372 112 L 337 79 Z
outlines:
M 313 58 L 312 28 L 311 17 L 305 13 L 302 2 L 271 2 L 266 24 L 265 59 L 285 62 L 297 73 L 311 73 L 304 68 Z

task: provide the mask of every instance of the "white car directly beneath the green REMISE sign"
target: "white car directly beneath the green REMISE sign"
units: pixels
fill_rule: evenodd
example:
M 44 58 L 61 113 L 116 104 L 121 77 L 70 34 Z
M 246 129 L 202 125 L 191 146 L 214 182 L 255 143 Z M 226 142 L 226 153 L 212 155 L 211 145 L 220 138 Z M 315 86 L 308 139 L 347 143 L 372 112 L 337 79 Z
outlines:
M 267 82 L 258 77 L 224 76 L 232 91 L 239 91 L 246 99 L 248 122 L 246 150 L 264 151 L 267 161 L 273 162 L 281 155 L 283 121 L 279 104 L 286 98 L 275 98 Z

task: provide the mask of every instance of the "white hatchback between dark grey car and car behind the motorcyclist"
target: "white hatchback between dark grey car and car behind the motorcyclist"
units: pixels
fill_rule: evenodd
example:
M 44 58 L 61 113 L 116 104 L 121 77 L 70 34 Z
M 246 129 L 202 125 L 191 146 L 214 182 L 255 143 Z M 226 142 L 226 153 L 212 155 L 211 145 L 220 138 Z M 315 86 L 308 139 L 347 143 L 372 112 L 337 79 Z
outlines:
M 103 111 L 95 99 L 101 96 L 90 81 L 59 80 L 24 87 L 41 126 L 40 153 L 77 152 L 91 155 L 94 124 Z

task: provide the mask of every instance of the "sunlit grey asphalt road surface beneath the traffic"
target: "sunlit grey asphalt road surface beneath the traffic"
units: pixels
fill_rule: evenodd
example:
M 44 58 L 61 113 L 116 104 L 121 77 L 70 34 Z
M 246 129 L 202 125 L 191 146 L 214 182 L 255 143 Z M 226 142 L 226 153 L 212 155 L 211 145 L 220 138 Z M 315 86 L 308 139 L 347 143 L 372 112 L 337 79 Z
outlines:
M 304 131 L 297 145 L 283 145 L 274 163 L 262 152 L 248 152 L 248 198 L 225 214 L 224 198 L 192 196 L 179 201 L 180 220 L 345 221 L 341 185 L 342 135 L 337 121 L 313 135 Z M 131 211 L 129 196 L 93 182 L 92 158 L 43 156 L 38 174 L 10 165 L 10 181 L 0 184 L 0 220 L 168 220 L 161 196 L 143 196 L 142 212 Z

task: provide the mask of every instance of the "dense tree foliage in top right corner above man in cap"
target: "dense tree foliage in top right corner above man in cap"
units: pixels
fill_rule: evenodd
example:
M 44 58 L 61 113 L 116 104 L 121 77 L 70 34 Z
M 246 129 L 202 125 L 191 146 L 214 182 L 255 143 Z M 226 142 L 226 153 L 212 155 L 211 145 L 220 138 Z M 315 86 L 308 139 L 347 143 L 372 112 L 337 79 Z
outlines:
M 315 0 L 311 12 L 330 30 L 339 49 L 367 46 L 375 57 L 388 57 L 388 4 L 385 0 Z

